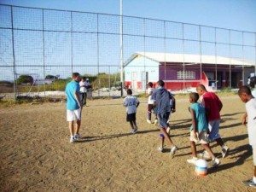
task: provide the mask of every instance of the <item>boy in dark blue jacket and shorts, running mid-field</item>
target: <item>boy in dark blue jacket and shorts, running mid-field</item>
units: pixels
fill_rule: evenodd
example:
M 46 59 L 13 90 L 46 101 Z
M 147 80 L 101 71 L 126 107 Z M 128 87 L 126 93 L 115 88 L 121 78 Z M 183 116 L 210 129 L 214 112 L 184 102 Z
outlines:
M 172 143 L 172 139 L 169 136 L 169 134 L 166 132 L 166 129 L 168 128 L 167 120 L 169 119 L 170 115 L 170 99 L 171 94 L 168 90 L 164 88 L 165 82 L 162 80 L 159 80 L 157 82 L 157 89 L 154 90 L 151 99 L 154 100 L 154 113 L 157 115 L 157 119 L 159 121 L 160 125 L 160 135 L 162 135 L 167 143 L 171 147 L 171 156 L 173 157 L 177 147 Z

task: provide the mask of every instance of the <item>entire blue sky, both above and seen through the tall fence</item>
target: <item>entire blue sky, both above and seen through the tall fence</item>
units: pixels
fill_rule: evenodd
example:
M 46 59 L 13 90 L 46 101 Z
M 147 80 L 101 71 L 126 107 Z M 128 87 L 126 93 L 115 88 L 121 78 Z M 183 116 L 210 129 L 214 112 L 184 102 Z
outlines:
M 0 79 L 14 77 L 13 50 L 15 73 L 38 73 L 42 76 L 44 70 L 45 74 L 61 75 L 61 78 L 65 78 L 70 75 L 68 67 L 71 66 L 74 66 L 73 70 L 81 73 L 117 73 L 120 62 L 120 38 L 116 35 L 119 33 L 119 17 L 102 14 L 120 15 L 120 2 L 121 0 L 0 0 L 0 4 L 101 15 L 97 19 L 95 14 L 74 14 L 74 33 L 71 36 L 70 33 L 53 32 L 70 29 L 68 12 L 45 11 L 46 31 L 42 40 L 41 12 L 14 9 L 13 49 L 12 33 L 1 28 L 10 27 L 10 9 L 0 10 L 0 43 L 3 44 L 0 46 L 0 64 L 6 66 L 0 70 Z M 140 51 L 219 55 L 255 61 L 256 0 L 123 0 L 122 8 L 125 16 L 156 19 L 131 20 L 130 17 L 124 17 L 124 61 Z M 88 22 L 84 23 L 84 18 Z M 79 20 L 82 21 L 78 22 Z M 182 25 L 181 22 L 203 27 Z M 160 30 L 163 27 L 166 30 Z M 33 31 L 34 29 L 39 31 Z M 96 32 L 99 32 L 98 37 Z M 182 38 L 185 39 L 184 42 Z M 42 67 L 43 63 L 46 67 Z M 80 66 L 83 68 L 79 68 Z

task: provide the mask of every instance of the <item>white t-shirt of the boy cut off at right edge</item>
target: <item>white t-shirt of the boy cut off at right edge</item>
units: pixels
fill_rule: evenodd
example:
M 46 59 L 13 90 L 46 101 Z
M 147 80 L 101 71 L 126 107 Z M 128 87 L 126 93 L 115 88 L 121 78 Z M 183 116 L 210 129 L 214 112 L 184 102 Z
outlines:
M 249 144 L 256 145 L 256 99 L 251 99 L 246 103 L 247 109 L 247 131 Z

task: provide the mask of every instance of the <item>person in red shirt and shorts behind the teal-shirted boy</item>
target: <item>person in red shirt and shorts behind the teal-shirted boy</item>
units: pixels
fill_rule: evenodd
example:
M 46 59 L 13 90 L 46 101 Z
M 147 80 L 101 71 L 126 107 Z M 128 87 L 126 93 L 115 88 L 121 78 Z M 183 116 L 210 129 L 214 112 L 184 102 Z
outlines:
M 223 104 L 219 100 L 218 96 L 215 93 L 208 92 L 203 84 L 198 84 L 196 87 L 196 91 L 199 96 L 201 96 L 201 105 L 206 109 L 209 140 L 210 142 L 216 141 L 218 143 L 218 145 L 222 148 L 221 154 L 224 158 L 228 153 L 229 148 L 224 144 L 222 138 L 218 133 L 220 123 L 219 112 L 222 109 Z M 206 151 L 204 151 L 202 155 L 206 158 L 209 156 Z

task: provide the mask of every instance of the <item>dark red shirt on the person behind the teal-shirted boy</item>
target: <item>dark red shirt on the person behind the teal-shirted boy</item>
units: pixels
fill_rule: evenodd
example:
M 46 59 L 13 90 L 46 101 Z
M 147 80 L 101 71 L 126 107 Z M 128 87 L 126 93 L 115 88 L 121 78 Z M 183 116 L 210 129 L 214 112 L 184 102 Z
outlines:
M 206 108 L 208 121 L 220 119 L 219 111 L 221 109 L 222 102 L 215 93 L 204 93 L 202 95 L 201 104 Z

